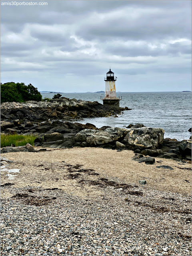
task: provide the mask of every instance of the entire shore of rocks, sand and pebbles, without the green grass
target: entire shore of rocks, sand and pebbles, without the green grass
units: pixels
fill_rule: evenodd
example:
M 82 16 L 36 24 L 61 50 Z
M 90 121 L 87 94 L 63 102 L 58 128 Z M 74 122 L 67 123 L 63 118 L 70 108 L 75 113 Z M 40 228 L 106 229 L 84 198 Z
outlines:
M 100 105 L 2 104 L 2 132 L 36 136 L 1 149 L 2 256 L 191 254 L 191 140 L 76 121 L 125 110 Z

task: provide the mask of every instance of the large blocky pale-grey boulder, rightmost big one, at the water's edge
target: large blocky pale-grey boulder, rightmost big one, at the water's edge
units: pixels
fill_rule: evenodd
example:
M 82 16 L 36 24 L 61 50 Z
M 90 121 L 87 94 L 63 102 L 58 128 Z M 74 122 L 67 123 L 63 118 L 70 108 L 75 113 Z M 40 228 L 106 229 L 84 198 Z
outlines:
M 127 130 L 124 144 L 128 149 L 156 149 L 163 143 L 164 130 L 162 128 L 130 128 Z

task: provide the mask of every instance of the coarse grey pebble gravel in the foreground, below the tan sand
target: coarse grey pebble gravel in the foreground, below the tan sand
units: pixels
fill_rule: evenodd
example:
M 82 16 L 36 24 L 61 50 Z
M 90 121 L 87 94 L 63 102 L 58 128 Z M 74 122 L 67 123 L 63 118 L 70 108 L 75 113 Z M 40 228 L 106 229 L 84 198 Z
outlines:
M 7 168 L 17 167 L 2 160 Z M 191 255 L 189 193 L 125 183 L 83 168 L 66 164 L 64 184 L 75 182 L 85 191 L 80 196 L 77 188 L 69 192 L 56 182 L 2 184 L 2 256 Z

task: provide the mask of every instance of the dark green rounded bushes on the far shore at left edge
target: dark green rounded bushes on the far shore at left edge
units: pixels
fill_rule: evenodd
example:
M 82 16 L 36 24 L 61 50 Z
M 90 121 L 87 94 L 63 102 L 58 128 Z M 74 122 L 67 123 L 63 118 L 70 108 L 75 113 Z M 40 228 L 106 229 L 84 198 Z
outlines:
M 42 100 L 42 95 L 32 84 L 27 86 L 24 83 L 14 82 L 1 84 L 1 102 L 25 102 L 27 100 Z

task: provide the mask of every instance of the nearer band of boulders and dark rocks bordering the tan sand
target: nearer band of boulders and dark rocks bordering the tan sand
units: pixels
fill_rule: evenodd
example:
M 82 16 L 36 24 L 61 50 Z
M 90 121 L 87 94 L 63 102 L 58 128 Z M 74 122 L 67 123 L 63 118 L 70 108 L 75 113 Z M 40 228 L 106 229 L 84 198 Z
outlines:
M 131 128 L 103 126 L 97 128 L 93 124 L 70 123 L 55 120 L 44 123 L 34 134 L 37 138 L 34 146 L 43 148 L 99 147 L 121 150 L 134 150 L 134 160 L 146 161 L 147 157 L 170 158 L 177 161 L 191 160 L 191 140 L 178 142 L 176 139 L 165 138 L 162 128 L 135 125 Z M 140 126 L 140 128 L 137 128 Z M 141 127 L 143 126 L 143 127 Z M 46 129 L 45 129 L 46 127 Z M 46 131 L 47 130 L 47 131 Z M 26 134 L 32 134 L 27 132 Z M 18 147 L 17 147 L 18 148 Z M 3 148 L 1 152 L 7 152 Z M 9 152 L 17 149 L 8 147 Z M 21 148 L 25 151 L 24 148 Z M 18 149 L 20 151 L 20 149 Z M 151 158 L 151 163 L 154 160 Z

